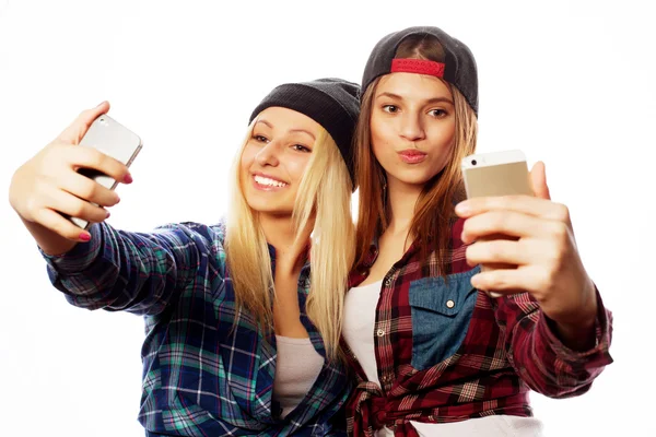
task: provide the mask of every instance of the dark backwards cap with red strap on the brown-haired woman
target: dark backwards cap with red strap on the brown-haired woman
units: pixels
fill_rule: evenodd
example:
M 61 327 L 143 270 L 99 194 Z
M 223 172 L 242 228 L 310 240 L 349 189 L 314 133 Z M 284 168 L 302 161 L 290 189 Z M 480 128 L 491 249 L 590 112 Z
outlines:
M 395 59 L 394 56 L 401 42 L 411 35 L 432 35 L 437 38 L 444 48 L 444 61 Z M 442 29 L 431 26 L 408 27 L 380 39 L 364 68 L 362 93 L 364 94 L 374 79 L 395 71 L 432 74 L 444 79 L 458 88 L 478 116 L 478 73 L 473 55 L 465 44 Z

